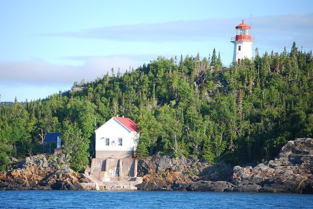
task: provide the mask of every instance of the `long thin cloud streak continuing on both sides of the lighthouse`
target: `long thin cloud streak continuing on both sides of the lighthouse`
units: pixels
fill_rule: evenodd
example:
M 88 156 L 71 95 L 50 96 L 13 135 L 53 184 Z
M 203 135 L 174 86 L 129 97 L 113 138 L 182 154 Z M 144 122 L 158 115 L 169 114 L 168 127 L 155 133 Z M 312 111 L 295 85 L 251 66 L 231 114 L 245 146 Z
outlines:
M 240 23 L 238 19 L 169 21 L 97 27 L 49 35 L 127 42 L 199 42 L 229 37 Z M 313 13 L 254 17 L 253 32 L 261 40 L 289 40 L 303 36 L 309 41 L 313 34 Z

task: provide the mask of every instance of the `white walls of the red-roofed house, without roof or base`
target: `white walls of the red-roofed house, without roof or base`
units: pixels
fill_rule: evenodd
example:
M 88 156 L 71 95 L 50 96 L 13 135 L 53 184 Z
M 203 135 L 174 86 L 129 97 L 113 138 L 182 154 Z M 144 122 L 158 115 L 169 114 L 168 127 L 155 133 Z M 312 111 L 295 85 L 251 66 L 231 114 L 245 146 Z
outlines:
M 97 151 L 134 151 L 139 134 L 129 130 L 115 118 L 111 118 L 104 125 L 100 126 L 95 133 L 96 153 Z M 109 145 L 107 144 L 107 139 L 109 139 Z M 122 139 L 122 146 L 119 144 L 119 139 Z

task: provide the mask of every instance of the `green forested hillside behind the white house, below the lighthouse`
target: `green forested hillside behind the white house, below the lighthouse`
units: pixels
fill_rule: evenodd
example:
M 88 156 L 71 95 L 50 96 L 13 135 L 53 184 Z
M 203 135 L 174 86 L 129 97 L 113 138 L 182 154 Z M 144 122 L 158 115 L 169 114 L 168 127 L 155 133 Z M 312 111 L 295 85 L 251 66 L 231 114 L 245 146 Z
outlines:
M 94 82 L 75 83 L 70 92 L 45 100 L 4 104 L 0 169 L 7 156 L 41 151 L 47 132 L 61 132 L 72 167 L 83 169 L 95 128 L 116 115 L 137 123 L 137 156 L 161 152 L 195 154 L 211 163 L 263 162 L 287 141 L 313 137 L 312 51 L 293 43 L 290 53 L 257 53 L 252 63 L 227 69 L 215 49 L 209 58 L 158 57 L 124 74 L 112 69 Z

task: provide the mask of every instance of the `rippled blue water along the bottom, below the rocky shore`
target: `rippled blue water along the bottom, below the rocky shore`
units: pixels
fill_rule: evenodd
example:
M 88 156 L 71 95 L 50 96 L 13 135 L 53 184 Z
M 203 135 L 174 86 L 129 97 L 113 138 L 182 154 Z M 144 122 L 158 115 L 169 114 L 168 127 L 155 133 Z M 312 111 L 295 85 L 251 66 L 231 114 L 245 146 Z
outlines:
M 176 191 L 0 191 L 5 209 L 313 209 L 313 195 Z

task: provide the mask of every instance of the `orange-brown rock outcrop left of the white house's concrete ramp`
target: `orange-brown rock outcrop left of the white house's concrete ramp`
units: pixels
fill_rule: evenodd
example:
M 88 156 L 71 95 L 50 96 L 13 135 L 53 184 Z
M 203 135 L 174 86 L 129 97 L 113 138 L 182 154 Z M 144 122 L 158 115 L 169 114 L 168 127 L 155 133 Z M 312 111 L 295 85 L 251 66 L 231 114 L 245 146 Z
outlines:
M 12 166 L 15 169 L 0 172 L 0 189 L 83 189 L 81 183 L 86 182 L 69 168 L 64 154 L 26 157 Z

